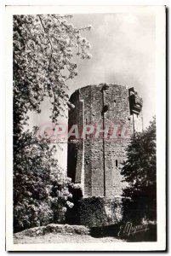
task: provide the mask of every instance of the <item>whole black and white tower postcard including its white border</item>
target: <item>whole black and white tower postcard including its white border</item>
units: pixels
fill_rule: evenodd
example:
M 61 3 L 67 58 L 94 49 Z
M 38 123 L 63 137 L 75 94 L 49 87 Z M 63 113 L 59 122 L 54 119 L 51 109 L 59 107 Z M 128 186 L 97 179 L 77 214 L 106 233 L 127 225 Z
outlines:
M 166 247 L 164 6 L 7 6 L 9 251 Z

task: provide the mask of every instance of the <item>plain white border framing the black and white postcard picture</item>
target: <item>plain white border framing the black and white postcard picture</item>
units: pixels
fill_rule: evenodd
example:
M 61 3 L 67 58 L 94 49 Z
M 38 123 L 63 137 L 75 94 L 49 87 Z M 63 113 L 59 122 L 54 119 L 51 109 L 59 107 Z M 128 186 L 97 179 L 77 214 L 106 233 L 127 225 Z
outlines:
M 157 242 L 14 244 L 13 242 L 13 41 L 12 15 L 144 13 L 156 15 Z M 6 7 L 6 242 L 8 251 L 157 251 L 166 247 L 166 48 L 164 6 Z M 151 84 L 149 84 L 151 86 Z

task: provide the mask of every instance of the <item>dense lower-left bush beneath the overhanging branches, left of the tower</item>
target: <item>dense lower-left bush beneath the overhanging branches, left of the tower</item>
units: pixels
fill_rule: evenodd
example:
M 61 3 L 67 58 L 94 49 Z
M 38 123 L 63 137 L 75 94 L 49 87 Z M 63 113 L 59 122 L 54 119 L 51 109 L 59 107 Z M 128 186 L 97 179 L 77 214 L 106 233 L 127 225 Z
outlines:
M 71 179 L 53 157 L 55 148 L 47 139 L 36 137 L 37 129 L 20 136 L 20 150 L 14 161 L 14 231 L 65 220 L 66 207 L 72 207 Z

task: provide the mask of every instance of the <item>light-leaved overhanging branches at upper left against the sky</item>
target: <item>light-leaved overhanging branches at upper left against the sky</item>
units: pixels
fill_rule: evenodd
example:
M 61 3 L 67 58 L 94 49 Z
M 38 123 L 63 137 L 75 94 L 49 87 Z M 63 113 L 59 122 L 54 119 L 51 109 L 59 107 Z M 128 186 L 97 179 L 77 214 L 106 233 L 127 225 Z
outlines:
M 45 96 L 52 120 L 66 107 L 66 80 L 77 76 L 75 54 L 89 59 L 90 44 L 66 20 L 71 15 L 14 15 L 14 121 L 25 124 L 28 110 L 40 112 Z M 21 127 L 20 127 L 21 128 Z

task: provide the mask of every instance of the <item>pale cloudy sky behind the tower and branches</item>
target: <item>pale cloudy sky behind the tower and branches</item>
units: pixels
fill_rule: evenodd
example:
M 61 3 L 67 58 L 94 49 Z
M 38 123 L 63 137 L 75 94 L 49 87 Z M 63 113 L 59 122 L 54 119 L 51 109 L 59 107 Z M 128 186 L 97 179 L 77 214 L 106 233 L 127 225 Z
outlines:
M 77 27 L 92 25 L 83 32 L 92 46 L 90 60 L 75 58 L 78 76 L 68 82 L 69 95 L 88 84 L 111 83 L 134 87 L 143 98 L 144 128 L 155 115 L 155 16 L 145 14 L 74 15 Z M 42 113 L 31 113 L 30 125 L 51 123 L 48 102 Z M 63 121 L 63 120 L 62 120 Z M 67 120 L 66 120 L 67 122 Z M 66 167 L 67 146 L 57 158 Z

